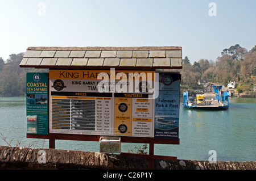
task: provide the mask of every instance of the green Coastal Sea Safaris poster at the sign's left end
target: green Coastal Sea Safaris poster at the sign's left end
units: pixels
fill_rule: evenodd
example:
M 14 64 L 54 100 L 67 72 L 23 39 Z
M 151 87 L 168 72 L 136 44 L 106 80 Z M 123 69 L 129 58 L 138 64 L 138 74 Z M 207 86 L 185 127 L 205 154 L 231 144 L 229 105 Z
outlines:
M 48 134 L 48 73 L 27 73 L 27 133 Z

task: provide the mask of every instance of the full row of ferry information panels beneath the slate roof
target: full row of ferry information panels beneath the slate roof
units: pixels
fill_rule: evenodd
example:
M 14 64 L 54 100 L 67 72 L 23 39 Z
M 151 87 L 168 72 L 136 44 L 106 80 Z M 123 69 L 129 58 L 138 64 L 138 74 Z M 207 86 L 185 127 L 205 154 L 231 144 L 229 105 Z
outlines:
M 157 85 L 155 71 L 121 74 L 27 73 L 27 133 L 179 138 L 180 74 L 159 73 Z

